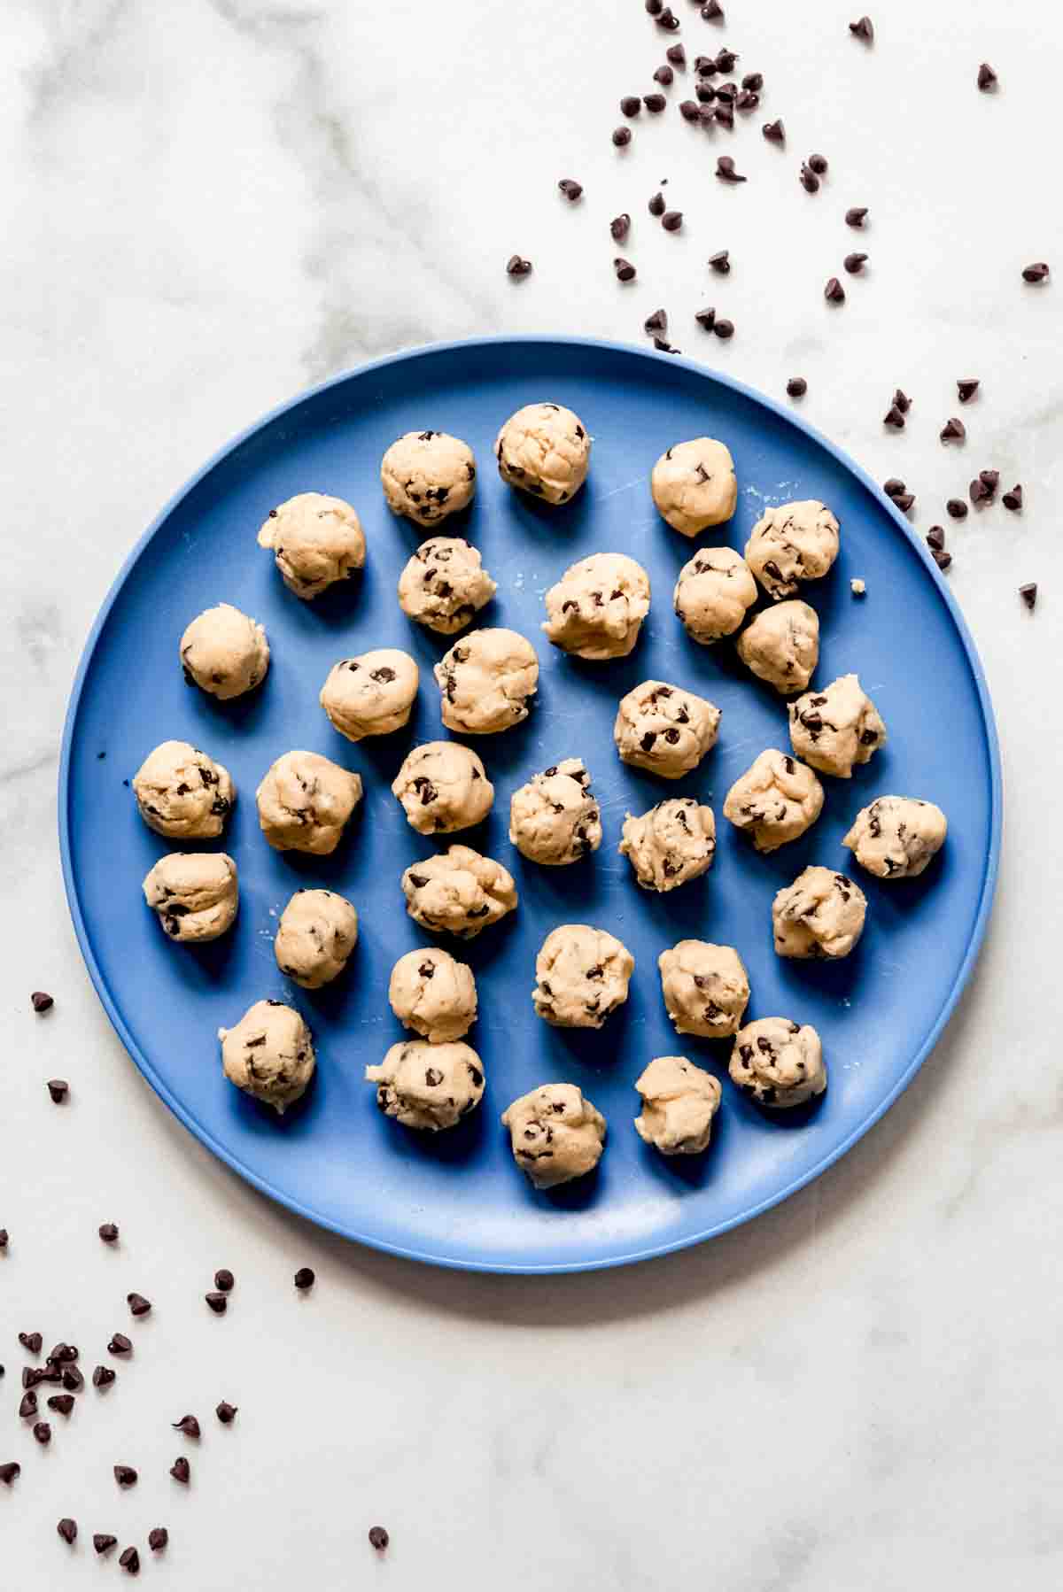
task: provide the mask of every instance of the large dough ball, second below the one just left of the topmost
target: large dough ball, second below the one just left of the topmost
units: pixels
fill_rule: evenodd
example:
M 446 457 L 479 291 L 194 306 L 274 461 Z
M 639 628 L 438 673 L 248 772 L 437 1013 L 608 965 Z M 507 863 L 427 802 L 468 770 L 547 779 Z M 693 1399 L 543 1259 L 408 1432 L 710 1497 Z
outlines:
M 539 689 L 539 659 L 516 630 L 470 630 L 443 653 L 435 680 L 448 729 L 494 736 L 528 718 Z

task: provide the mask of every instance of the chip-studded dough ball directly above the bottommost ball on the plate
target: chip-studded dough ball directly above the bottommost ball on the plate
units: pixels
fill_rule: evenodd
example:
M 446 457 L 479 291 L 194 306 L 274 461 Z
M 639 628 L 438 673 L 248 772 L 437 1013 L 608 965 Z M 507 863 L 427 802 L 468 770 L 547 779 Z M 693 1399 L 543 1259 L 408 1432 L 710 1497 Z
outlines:
M 535 957 L 532 1005 L 555 1028 L 601 1028 L 623 1006 L 634 957 L 604 928 L 563 923 Z

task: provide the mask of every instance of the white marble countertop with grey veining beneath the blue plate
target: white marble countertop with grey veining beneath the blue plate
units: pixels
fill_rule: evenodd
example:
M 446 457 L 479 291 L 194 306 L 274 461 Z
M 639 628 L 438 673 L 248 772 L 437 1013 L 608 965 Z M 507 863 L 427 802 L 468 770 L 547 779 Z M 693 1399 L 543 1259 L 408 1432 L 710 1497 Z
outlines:
M 891 0 L 872 51 L 841 0 L 727 0 L 767 76 L 716 146 L 669 113 L 609 142 L 665 37 L 641 0 L 5 0 L 0 318 L 0 1584 L 116 1574 L 89 1535 L 166 1524 L 145 1581 L 728 1592 L 1041 1592 L 1063 1573 L 1055 1250 L 1063 1216 L 1060 863 L 1038 826 L 1060 759 L 1063 390 L 1052 170 L 1063 19 L 990 0 Z M 982 59 L 1001 75 L 980 96 Z M 781 115 L 786 153 L 760 121 Z M 816 197 L 795 167 L 822 150 Z M 712 178 L 733 150 L 743 188 Z M 555 181 L 579 177 L 569 209 Z M 687 213 L 645 215 L 660 178 Z M 841 223 L 867 204 L 861 240 Z M 628 209 L 612 277 L 607 221 Z M 706 255 L 735 269 L 709 279 Z M 824 279 L 865 247 L 832 310 Z M 535 272 L 504 274 L 513 252 Z M 738 326 L 706 339 L 693 309 Z M 637 341 L 665 304 L 685 352 L 802 406 L 942 517 L 982 465 L 1026 509 L 950 533 L 953 589 L 993 689 L 1007 780 L 1001 888 L 977 976 L 888 1118 L 786 1207 L 615 1275 L 469 1278 L 322 1237 L 217 1165 L 151 1095 L 81 968 L 54 833 L 57 743 L 83 638 L 159 503 L 228 435 L 384 350 L 543 330 Z M 982 377 L 964 451 L 937 428 Z M 908 428 L 883 431 L 892 387 Z M 1028 615 L 1020 581 L 1041 583 Z M 942 726 L 947 732 L 947 726 Z M 45 1019 L 30 989 L 56 993 Z M 70 1078 L 56 1110 L 43 1079 Z M 121 1223 L 116 1253 L 97 1223 Z M 225 1321 L 201 1293 L 228 1264 Z M 319 1282 L 296 1299 L 290 1275 Z M 14 1334 L 96 1363 L 123 1297 L 156 1310 L 108 1398 L 49 1450 L 14 1417 Z M 226 1396 L 234 1426 L 209 1415 Z M 206 1436 L 188 1490 L 166 1422 Z M 116 1460 L 139 1465 L 118 1496 Z M 61 1514 L 81 1524 L 70 1554 Z M 365 1530 L 392 1532 L 375 1563 Z M 65 1563 L 65 1560 L 72 1560 Z

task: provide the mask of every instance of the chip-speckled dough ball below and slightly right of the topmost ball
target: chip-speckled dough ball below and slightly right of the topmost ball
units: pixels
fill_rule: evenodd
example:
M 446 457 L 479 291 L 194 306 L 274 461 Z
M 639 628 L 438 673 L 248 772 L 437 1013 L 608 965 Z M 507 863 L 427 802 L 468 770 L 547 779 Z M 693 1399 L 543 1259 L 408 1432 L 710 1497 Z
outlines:
M 650 578 L 623 552 L 593 552 L 567 567 L 545 603 L 543 630 L 563 653 L 626 657 L 650 611 Z

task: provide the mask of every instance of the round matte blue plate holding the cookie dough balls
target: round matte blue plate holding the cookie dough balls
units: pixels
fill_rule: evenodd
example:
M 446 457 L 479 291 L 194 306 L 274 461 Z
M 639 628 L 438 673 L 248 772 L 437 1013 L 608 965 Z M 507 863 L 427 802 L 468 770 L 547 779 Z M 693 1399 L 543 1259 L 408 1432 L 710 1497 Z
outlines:
M 505 487 L 491 446 L 520 404 L 556 400 L 594 436 L 585 489 L 548 509 Z M 382 1118 L 362 1081 L 403 1033 L 387 977 L 424 936 L 403 911 L 398 876 L 432 850 L 389 791 L 414 740 L 437 739 L 432 664 L 445 640 L 406 621 L 395 599 L 416 527 L 394 519 L 379 460 L 402 431 L 443 427 L 480 462 L 477 500 L 445 530 L 467 535 L 499 583 L 484 624 L 532 637 L 542 662 L 526 724 L 475 745 L 496 783 L 494 812 L 457 839 L 499 856 L 521 904 L 469 947 L 480 1020 L 470 1040 L 488 1076 L 483 1108 L 448 1134 Z M 822 621 L 818 681 L 857 670 L 889 728 L 889 745 L 851 782 L 826 780 L 822 818 L 803 841 L 762 858 L 722 818 L 727 788 L 765 747 L 787 747 L 783 700 L 736 662 L 730 643 L 692 643 L 671 591 L 695 543 L 658 517 L 650 468 L 681 438 L 719 436 L 735 455 L 730 525 L 743 548 L 765 503 L 822 498 L 841 521 L 841 554 L 810 589 Z M 268 509 L 303 490 L 349 498 L 365 527 L 362 579 L 298 602 L 255 544 Z M 711 540 L 703 538 L 703 540 Z M 542 594 L 574 559 L 631 552 L 650 573 L 653 607 L 631 657 L 583 664 L 539 630 Z M 849 579 L 867 583 L 861 602 Z M 234 704 L 188 689 L 177 662 L 185 624 L 217 602 L 266 626 L 266 685 Z M 370 646 L 402 646 L 421 664 L 410 732 L 341 739 L 317 705 L 330 665 Z M 720 739 L 679 786 L 617 759 L 618 697 L 639 680 L 673 680 L 722 710 Z M 241 911 L 225 939 L 171 944 L 140 895 L 166 844 L 135 814 L 126 782 L 159 740 L 186 739 L 231 771 L 239 801 L 225 841 L 239 864 Z M 255 786 L 282 751 L 306 747 L 355 767 L 365 802 L 331 858 L 277 855 L 261 839 Z M 579 751 L 601 799 L 601 850 L 572 868 L 537 868 L 507 839 L 510 793 Z M 711 874 L 655 896 L 617 852 L 625 810 L 676 790 L 709 801 L 719 845 Z M 920 880 L 880 885 L 861 872 L 867 931 L 838 965 L 781 962 L 771 896 L 808 863 L 846 868 L 853 815 L 885 791 L 929 798 L 948 814 L 948 842 Z M 1001 782 L 996 732 L 971 637 L 932 560 L 900 514 L 843 454 L 792 414 L 681 358 L 591 341 L 505 339 L 422 349 L 368 365 L 268 416 L 217 455 L 163 511 L 121 570 L 96 621 L 73 688 L 59 791 L 62 866 L 89 974 L 126 1049 L 172 1111 L 250 1183 L 336 1232 L 414 1259 L 483 1270 L 580 1270 L 696 1243 L 786 1199 L 843 1154 L 886 1110 L 929 1052 L 971 973 L 996 876 Z M 273 933 L 288 895 L 324 884 L 357 906 L 362 936 L 347 976 L 306 993 L 277 971 Z M 631 997 L 601 1033 L 548 1028 L 532 1014 L 535 952 L 563 922 L 599 923 L 636 958 Z M 725 1076 L 727 1052 L 679 1038 L 666 1019 L 657 957 L 682 936 L 738 947 L 752 984 L 749 1016 L 787 1014 L 822 1035 L 830 1086 L 811 1111 L 771 1121 Z M 296 1005 L 314 1028 L 319 1068 L 284 1119 L 223 1081 L 215 1030 L 261 997 Z M 724 1079 L 704 1156 L 665 1161 L 636 1137 L 633 1083 L 653 1055 L 685 1052 Z M 551 1079 L 579 1083 L 609 1121 L 599 1172 L 537 1194 L 510 1157 L 499 1114 Z

